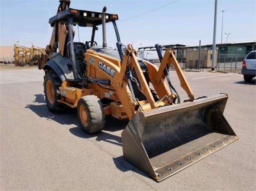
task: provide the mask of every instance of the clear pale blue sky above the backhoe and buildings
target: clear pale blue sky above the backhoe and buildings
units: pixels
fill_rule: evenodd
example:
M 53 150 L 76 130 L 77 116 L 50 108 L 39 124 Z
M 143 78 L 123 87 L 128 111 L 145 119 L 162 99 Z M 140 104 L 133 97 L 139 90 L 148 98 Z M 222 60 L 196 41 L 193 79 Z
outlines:
M 48 20 L 58 5 L 58 0 L 0 0 L 0 45 L 18 41 L 26 47 L 46 47 L 52 33 Z M 215 0 L 71 0 L 70 7 L 101 12 L 107 6 L 107 13 L 118 14 L 121 42 L 138 49 L 156 43 L 199 45 L 199 40 L 201 45 L 212 44 L 214 5 Z M 221 37 L 223 43 L 256 41 L 256 0 L 218 0 L 217 5 L 216 43 Z M 91 28 L 79 27 L 79 38 L 77 26 L 74 29 L 74 41 L 90 41 Z M 95 41 L 102 44 L 101 27 Z M 115 43 L 113 26 L 107 24 L 107 45 L 115 48 Z

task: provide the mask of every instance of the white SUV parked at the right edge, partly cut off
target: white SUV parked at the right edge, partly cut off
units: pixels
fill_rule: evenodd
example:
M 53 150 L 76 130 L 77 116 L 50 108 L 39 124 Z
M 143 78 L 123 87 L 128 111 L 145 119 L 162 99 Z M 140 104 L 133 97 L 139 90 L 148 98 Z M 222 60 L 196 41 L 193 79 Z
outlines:
M 244 81 L 250 82 L 256 76 L 256 51 L 251 51 L 244 59 L 242 65 Z

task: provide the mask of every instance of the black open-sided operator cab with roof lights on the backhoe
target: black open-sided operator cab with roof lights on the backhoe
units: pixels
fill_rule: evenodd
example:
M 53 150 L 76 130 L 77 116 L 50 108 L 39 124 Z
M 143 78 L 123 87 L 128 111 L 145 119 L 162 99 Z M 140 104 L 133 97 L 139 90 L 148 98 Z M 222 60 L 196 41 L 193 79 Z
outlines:
M 99 53 L 104 53 L 109 56 L 120 59 L 118 51 L 110 47 L 107 47 L 106 37 L 104 38 L 104 34 L 106 35 L 105 24 L 112 22 L 116 33 L 117 41 L 121 42 L 119 32 L 117 30 L 117 25 L 115 23 L 115 21 L 118 20 L 118 16 L 116 14 L 107 14 L 105 13 L 107 8 L 104 7 L 104 9 L 103 12 L 92 12 L 87 10 L 77 10 L 73 8 L 68 8 L 67 10 L 62 11 L 56 16 L 53 16 L 52 18 L 49 19 L 49 24 L 52 27 L 55 26 L 55 52 L 57 52 L 58 49 L 58 24 L 65 24 L 67 26 L 67 30 L 69 31 L 69 35 L 67 39 L 65 39 L 65 44 L 67 44 L 67 46 L 65 46 L 62 55 L 64 59 L 69 59 L 70 61 L 66 62 L 67 65 L 61 66 L 63 67 L 63 71 L 69 70 L 70 72 L 73 72 L 73 75 L 70 75 L 71 77 L 73 77 L 69 78 L 69 80 L 77 82 L 83 81 L 83 71 L 86 70 L 86 66 L 84 66 L 83 63 L 83 54 L 86 52 L 87 49 L 93 49 Z M 103 15 L 105 15 L 105 17 L 103 17 Z M 78 25 L 79 27 L 92 28 L 90 41 L 86 41 L 85 43 L 74 42 L 74 35 L 71 31 L 73 31 L 73 26 L 76 25 Z M 97 26 L 100 25 L 103 26 L 102 46 L 98 45 L 97 42 L 95 42 L 95 32 L 96 30 L 98 30 Z M 56 59 L 56 61 L 58 60 L 59 59 Z

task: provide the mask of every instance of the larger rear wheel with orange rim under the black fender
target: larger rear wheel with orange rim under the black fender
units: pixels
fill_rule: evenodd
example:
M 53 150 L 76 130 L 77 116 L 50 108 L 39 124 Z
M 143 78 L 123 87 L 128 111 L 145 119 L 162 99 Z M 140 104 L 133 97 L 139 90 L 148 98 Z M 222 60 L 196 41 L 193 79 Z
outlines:
M 53 70 L 48 70 L 44 76 L 44 95 L 47 107 L 53 113 L 65 110 L 65 105 L 60 103 L 61 96 L 57 94 L 61 80 Z

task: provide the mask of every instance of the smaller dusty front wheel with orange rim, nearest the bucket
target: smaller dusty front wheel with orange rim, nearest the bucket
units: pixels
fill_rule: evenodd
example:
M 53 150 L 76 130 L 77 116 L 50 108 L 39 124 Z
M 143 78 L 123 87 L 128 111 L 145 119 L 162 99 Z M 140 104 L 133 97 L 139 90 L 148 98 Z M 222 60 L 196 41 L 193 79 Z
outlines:
M 77 105 L 77 117 L 83 132 L 94 134 L 105 126 L 105 113 L 101 100 L 95 95 L 80 98 Z

